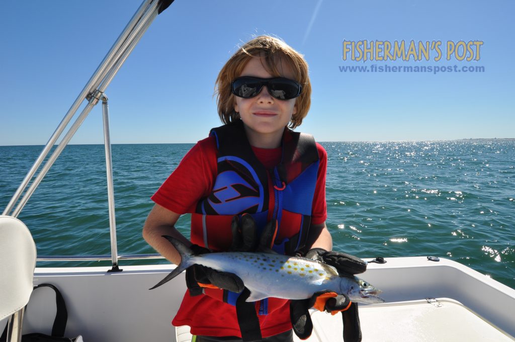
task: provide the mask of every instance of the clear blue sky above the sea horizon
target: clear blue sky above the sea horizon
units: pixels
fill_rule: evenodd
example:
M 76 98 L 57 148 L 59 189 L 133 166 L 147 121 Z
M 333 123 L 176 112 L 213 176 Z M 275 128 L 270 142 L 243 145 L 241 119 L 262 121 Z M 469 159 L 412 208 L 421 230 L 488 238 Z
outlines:
M 47 143 L 140 4 L 2 4 L 0 145 Z M 239 45 L 263 34 L 280 37 L 310 65 L 312 105 L 297 130 L 317 141 L 515 138 L 514 12 L 511 0 L 176 0 L 106 90 L 111 142 L 205 138 L 221 125 L 213 96 L 219 70 Z M 367 61 L 356 49 L 354 58 L 344 54 L 364 40 L 377 46 Z M 409 60 L 388 48 L 396 41 L 405 55 L 414 42 Z M 427 56 L 419 42 L 432 47 Z M 368 72 L 351 71 L 357 67 Z M 98 105 L 71 143 L 103 141 Z

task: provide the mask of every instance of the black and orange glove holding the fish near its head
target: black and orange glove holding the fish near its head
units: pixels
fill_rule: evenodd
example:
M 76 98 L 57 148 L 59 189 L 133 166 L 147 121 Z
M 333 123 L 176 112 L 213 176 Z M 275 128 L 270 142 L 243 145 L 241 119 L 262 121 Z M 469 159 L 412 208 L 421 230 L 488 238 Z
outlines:
M 328 252 L 322 248 L 311 249 L 304 255 L 304 258 L 331 265 L 336 268 L 341 276 L 355 275 L 367 269 L 367 264 L 354 257 L 354 255 L 334 251 Z M 320 291 L 313 294 L 311 298 L 290 302 L 291 325 L 299 338 L 308 338 L 313 330 L 313 323 L 308 312 L 310 307 L 330 312 L 333 315 L 341 312 L 344 322 L 344 341 L 361 341 L 362 334 L 357 303 L 351 302 L 349 297 L 344 294 L 338 295 L 330 291 Z

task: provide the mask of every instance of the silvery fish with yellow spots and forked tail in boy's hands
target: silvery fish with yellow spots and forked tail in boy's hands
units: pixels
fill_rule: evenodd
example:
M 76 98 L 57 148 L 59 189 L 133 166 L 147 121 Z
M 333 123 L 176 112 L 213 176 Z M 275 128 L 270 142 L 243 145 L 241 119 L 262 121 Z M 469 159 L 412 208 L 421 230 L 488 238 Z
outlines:
M 268 297 L 307 299 L 318 291 L 345 294 L 353 302 L 382 303 L 381 290 L 355 276 L 341 277 L 327 264 L 306 258 L 272 253 L 219 252 L 194 255 L 177 239 L 164 236 L 181 255 L 181 263 L 156 286 L 175 278 L 186 268 L 198 264 L 217 271 L 234 273 L 250 290 L 248 302 Z

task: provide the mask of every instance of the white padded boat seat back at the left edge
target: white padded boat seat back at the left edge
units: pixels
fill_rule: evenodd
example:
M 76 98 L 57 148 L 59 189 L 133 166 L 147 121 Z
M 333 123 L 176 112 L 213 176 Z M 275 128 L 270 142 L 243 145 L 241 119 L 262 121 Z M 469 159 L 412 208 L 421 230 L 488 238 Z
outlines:
M 35 267 L 36 244 L 27 227 L 0 215 L 0 320 L 28 303 Z

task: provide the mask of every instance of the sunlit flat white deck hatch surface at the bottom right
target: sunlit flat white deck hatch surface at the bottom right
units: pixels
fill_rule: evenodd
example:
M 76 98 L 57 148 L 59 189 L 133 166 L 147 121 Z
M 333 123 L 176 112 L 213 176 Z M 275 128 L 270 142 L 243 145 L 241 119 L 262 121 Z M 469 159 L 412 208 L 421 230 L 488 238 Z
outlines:
M 342 338 L 341 316 L 312 312 L 314 331 L 306 342 L 338 342 Z M 435 304 L 416 300 L 378 305 L 362 305 L 359 309 L 363 342 L 389 341 L 467 341 L 504 342 L 515 339 L 476 315 L 461 303 L 438 299 Z M 190 327 L 177 328 L 177 342 L 190 342 Z M 301 342 L 297 336 L 296 342 Z

